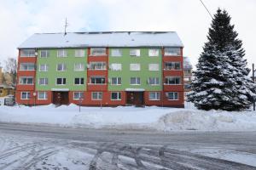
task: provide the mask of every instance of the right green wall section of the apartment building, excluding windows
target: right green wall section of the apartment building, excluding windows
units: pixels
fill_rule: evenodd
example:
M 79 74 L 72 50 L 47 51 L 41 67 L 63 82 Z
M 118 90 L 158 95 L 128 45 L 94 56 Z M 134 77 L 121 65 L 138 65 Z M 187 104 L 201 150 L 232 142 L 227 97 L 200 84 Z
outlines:
M 161 68 L 161 54 L 159 48 L 159 56 L 149 57 L 148 56 L 148 48 L 139 48 L 140 56 L 130 56 L 131 48 L 121 48 L 122 56 L 113 57 L 111 55 L 111 50 L 109 49 L 109 65 L 112 63 L 122 64 L 121 71 L 108 71 L 108 78 L 112 77 L 121 77 L 122 83 L 121 85 L 112 85 L 108 83 L 109 91 L 125 91 L 125 88 L 144 88 L 146 91 L 161 91 L 162 86 L 150 86 L 148 84 L 149 77 L 159 77 L 159 81 L 162 82 L 162 68 Z M 130 64 L 140 64 L 140 71 L 130 71 Z M 148 64 L 159 64 L 159 71 L 148 71 Z M 141 85 L 131 85 L 130 78 L 131 77 L 140 77 Z M 161 84 L 161 83 L 160 83 Z

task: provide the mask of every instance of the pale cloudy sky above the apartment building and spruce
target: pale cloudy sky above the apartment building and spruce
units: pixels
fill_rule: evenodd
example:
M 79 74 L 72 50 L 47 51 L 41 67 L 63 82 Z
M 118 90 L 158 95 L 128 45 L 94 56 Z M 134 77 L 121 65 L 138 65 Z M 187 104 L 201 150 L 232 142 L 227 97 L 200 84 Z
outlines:
M 243 42 L 248 66 L 256 64 L 256 0 L 203 0 L 212 14 L 225 8 Z M 207 41 L 211 17 L 200 0 L 0 0 L 0 61 L 36 32 L 177 31 L 193 65 Z

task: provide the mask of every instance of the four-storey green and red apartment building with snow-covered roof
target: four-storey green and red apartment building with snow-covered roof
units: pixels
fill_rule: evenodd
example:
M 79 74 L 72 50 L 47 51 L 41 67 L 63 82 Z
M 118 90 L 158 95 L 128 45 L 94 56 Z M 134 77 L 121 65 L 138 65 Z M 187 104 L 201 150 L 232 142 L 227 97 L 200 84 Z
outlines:
M 176 32 L 34 34 L 18 49 L 19 104 L 184 106 Z

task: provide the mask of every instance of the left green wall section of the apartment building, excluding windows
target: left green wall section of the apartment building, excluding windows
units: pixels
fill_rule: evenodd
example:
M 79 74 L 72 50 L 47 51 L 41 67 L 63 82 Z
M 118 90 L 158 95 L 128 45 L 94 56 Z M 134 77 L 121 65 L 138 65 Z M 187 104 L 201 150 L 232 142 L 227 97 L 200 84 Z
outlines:
M 79 91 L 86 89 L 86 78 L 87 78 L 87 49 L 84 48 L 84 57 L 75 57 L 75 48 L 68 48 L 67 57 L 57 57 L 57 49 L 47 49 L 49 51 L 49 56 L 47 58 L 42 58 L 41 50 L 38 50 L 38 60 L 37 60 L 37 76 L 36 76 L 36 89 L 38 91 L 48 91 L 51 88 L 69 88 L 71 91 Z M 64 63 L 67 66 L 66 71 L 57 71 L 57 64 Z M 84 71 L 74 71 L 75 63 L 83 63 Z M 48 71 L 39 71 L 39 66 L 42 64 L 47 64 L 49 66 Z M 56 85 L 57 77 L 65 77 L 66 85 Z M 75 77 L 84 77 L 83 85 L 74 85 Z M 39 78 L 48 78 L 48 85 L 39 85 Z

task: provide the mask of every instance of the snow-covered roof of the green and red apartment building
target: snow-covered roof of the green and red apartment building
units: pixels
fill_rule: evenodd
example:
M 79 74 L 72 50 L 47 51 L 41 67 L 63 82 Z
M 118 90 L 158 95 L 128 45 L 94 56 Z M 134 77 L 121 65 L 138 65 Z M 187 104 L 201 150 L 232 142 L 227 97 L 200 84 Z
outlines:
M 183 47 L 175 31 L 36 33 L 18 48 Z

